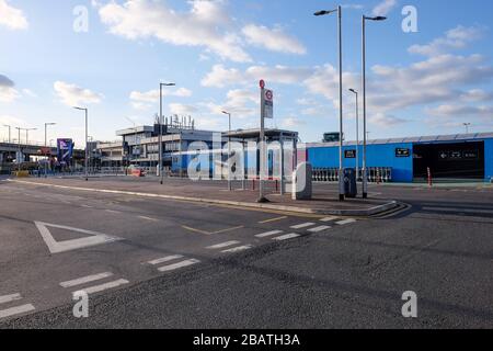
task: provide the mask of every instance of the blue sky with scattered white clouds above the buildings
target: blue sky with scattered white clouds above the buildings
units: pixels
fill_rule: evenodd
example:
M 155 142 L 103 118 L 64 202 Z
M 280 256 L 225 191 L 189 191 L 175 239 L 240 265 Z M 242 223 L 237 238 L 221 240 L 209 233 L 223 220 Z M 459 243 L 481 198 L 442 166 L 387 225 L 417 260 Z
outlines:
M 360 16 L 367 27 L 370 137 L 493 131 L 491 0 L 351 0 L 343 5 L 345 132 L 355 137 L 360 90 Z M 405 33 L 404 5 L 417 10 Z M 259 125 L 259 79 L 275 92 L 268 126 L 303 141 L 337 131 L 336 16 L 312 13 L 328 0 L 0 0 L 0 139 L 3 124 L 56 122 L 48 138 L 116 139 L 115 131 L 164 114 L 192 115 L 200 128 Z M 88 21 L 85 22 L 85 14 Z M 24 136 L 23 136 L 24 138 Z

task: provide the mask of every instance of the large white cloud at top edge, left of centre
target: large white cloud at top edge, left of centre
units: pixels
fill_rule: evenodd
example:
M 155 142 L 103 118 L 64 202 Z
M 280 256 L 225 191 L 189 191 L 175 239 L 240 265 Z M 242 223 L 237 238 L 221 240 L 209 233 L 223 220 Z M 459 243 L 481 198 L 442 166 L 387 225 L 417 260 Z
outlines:
M 225 59 L 250 61 L 240 37 L 228 32 L 230 16 L 222 3 L 190 1 L 190 11 L 176 12 L 160 1 L 128 0 L 110 2 L 99 13 L 111 33 L 128 39 L 156 37 L 173 45 L 206 47 Z

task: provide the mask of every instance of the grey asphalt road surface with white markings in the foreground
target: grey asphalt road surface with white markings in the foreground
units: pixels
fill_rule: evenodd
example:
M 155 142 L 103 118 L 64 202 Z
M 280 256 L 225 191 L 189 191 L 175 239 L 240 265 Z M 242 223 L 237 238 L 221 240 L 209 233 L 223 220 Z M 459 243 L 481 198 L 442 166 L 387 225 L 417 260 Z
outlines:
M 0 181 L 0 328 L 492 328 L 493 191 L 370 191 L 409 206 L 324 218 Z

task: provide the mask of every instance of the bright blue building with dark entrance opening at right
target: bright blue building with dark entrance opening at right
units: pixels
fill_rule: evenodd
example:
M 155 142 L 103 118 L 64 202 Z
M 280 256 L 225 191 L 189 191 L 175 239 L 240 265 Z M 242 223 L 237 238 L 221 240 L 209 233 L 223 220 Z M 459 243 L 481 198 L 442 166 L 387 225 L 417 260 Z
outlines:
M 363 143 L 344 143 L 344 167 L 363 166 Z M 306 158 L 316 169 L 339 168 L 339 143 L 306 145 Z M 493 133 L 423 136 L 369 140 L 367 167 L 391 170 L 391 181 L 493 178 Z

